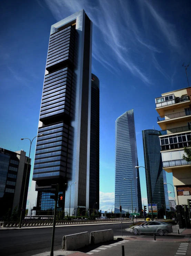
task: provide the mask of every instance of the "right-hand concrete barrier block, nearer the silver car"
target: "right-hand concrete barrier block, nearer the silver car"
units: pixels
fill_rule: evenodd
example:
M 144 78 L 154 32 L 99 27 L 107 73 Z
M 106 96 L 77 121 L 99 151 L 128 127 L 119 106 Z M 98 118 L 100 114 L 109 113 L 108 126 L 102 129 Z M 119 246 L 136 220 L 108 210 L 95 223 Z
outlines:
M 90 234 L 90 244 L 99 244 L 100 242 L 105 242 L 113 240 L 113 229 L 93 231 Z

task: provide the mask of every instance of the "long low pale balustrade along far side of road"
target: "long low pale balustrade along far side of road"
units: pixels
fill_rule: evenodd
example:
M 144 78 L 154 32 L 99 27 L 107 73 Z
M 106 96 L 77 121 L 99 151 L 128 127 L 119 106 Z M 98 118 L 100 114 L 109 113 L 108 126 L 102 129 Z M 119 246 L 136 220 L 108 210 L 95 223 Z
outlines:
M 136 220 L 144 220 L 134 219 Z M 123 219 L 122 222 L 130 222 L 129 219 Z M 56 226 L 72 226 L 72 225 L 85 225 L 85 224 L 107 224 L 107 223 L 121 223 L 121 219 L 115 220 L 69 220 L 69 221 L 56 221 Z M 50 221 L 22 221 L 21 227 L 50 227 L 53 225 L 53 220 Z M 0 228 L 18 228 L 19 221 L 4 221 L 0 222 Z

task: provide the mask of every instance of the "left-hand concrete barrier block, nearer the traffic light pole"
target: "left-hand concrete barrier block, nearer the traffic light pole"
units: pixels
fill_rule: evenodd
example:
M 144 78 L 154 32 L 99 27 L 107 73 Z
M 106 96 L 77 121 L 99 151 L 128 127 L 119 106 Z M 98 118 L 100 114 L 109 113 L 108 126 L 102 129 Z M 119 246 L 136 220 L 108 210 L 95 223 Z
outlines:
M 62 249 L 73 251 L 90 244 L 89 232 L 83 232 L 73 235 L 64 236 L 62 239 Z

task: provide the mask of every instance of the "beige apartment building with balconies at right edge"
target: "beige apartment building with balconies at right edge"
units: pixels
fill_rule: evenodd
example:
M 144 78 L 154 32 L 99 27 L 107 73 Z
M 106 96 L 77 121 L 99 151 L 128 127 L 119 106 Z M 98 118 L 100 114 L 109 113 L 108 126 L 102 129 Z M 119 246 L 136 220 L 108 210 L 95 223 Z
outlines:
M 191 87 L 163 93 L 155 98 L 161 127 L 159 138 L 163 169 L 173 175 L 177 216 L 182 227 L 190 225 L 187 199 L 191 200 L 191 162 L 183 159 L 191 144 Z

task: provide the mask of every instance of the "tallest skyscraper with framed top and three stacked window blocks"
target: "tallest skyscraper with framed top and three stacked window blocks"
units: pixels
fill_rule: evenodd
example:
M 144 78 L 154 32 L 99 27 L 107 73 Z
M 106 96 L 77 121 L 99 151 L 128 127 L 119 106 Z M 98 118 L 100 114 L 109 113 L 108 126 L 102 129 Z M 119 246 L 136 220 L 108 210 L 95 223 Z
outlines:
M 70 215 L 89 208 L 91 52 L 92 22 L 84 10 L 51 26 L 38 129 L 44 136 L 33 170 L 41 212 L 54 208 L 56 183 L 68 213 L 71 201 Z

